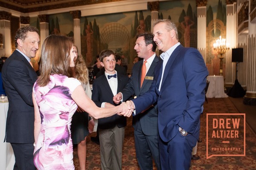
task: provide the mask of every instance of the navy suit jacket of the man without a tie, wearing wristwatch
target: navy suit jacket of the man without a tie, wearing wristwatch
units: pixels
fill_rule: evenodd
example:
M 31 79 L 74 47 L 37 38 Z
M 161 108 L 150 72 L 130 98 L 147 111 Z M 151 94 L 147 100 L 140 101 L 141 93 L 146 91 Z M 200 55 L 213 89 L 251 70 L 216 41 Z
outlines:
M 172 140 L 179 127 L 198 139 L 208 75 L 203 57 L 195 48 L 178 45 L 167 62 L 159 91 L 162 70 L 160 61 L 149 91 L 133 99 L 136 113 L 157 102 L 158 130 L 164 142 Z

